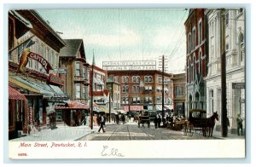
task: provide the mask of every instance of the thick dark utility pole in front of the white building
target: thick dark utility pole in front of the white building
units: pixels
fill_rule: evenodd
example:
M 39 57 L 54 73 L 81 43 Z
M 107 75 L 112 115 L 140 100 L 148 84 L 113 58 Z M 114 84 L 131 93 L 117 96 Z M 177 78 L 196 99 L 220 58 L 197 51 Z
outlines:
M 228 18 L 227 18 L 228 19 Z M 222 136 L 228 135 L 227 126 L 227 94 L 226 94 L 226 54 L 225 54 L 225 9 L 221 9 L 221 125 Z

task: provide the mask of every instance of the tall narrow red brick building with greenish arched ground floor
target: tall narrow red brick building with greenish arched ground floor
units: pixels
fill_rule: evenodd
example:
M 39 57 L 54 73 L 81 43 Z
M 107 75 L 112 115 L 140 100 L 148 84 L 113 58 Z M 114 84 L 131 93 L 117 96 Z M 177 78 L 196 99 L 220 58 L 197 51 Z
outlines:
M 185 21 L 186 54 L 186 116 L 190 109 L 207 109 L 207 24 L 205 9 L 189 9 Z

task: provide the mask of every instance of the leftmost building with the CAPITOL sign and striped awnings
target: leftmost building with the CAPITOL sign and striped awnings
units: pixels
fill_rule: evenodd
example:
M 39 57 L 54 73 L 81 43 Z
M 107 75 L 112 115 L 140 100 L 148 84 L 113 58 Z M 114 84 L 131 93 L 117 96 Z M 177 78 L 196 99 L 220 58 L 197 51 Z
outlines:
M 55 102 L 68 99 L 60 89 L 64 81 L 51 72 L 65 45 L 35 10 L 9 11 L 9 90 L 25 101 L 9 103 L 9 138 L 18 130 L 27 133 L 28 124 L 45 128 Z

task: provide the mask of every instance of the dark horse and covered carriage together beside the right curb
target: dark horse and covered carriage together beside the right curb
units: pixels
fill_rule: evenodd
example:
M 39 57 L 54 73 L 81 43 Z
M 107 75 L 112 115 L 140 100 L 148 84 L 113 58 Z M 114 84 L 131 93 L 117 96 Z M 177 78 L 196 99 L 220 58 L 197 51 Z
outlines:
M 213 112 L 210 118 L 207 118 L 207 112 L 201 109 L 192 109 L 189 111 L 189 119 L 183 124 L 184 135 L 194 135 L 195 131 L 202 132 L 203 136 L 212 136 L 212 130 L 215 125 L 215 119 L 218 120 L 218 113 Z

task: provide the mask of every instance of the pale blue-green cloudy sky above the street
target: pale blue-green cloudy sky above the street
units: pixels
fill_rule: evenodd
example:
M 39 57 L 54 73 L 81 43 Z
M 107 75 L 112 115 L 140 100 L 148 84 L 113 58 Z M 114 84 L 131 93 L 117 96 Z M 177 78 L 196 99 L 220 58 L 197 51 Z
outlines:
M 38 9 L 63 39 L 82 38 L 86 60 L 155 60 L 165 55 L 166 72 L 185 66 L 186 9 Z

